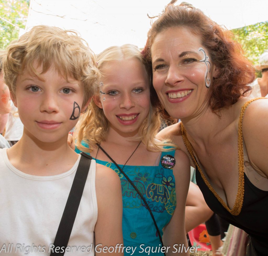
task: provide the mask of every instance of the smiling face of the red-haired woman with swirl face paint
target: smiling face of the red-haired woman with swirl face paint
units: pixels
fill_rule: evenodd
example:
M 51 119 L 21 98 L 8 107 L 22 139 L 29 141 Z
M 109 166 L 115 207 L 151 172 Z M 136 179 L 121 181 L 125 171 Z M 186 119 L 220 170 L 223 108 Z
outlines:
M 192 118 L 207 108 L 214 65 L 198 35 L 187 27 L 160 32 L 151 47 L 153 85 L 174 118 Z

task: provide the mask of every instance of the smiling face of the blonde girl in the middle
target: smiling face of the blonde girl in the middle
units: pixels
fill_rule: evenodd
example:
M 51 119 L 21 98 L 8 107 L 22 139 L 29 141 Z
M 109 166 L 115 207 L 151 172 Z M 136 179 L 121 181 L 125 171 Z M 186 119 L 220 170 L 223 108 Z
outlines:
M 114 60 L 103 65 L 102 73 L 102 85 L 94 102 L 103 109 L 110 128 L 135 135 L 150 109 L 150 88 L 144 66 L 135 58 Z

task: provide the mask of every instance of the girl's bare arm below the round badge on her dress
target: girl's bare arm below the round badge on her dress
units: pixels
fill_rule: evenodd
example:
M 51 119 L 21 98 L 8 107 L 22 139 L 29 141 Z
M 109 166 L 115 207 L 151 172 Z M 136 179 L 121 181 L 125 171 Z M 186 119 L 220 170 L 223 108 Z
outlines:
M 187 155 L 181 151 L 176 150 L 175 153 L 176 165 L 173 168 L 173 175 L 175 177 L 175 187 L 176 187 L 176 201 L 177 205 L 173 216 L 166 225 L 163 234 L 164 246 L 170 246 L 170 249 L 166 255 L 174 255 L 176 248 L 181 244 L 181 247 L 188 248 L 188 243 L 186 240 L 185 233 L 185 202 L 189 188 L 190 182 L 190 163 Z M 176 244 L 178 246 L 176 246 Z M 175 245 L 175 248 L 174 248 Z M 178 253 L 178 252 L 177 252 Z M 189 255 L 189 250 L 180 253 L 180 255 Z

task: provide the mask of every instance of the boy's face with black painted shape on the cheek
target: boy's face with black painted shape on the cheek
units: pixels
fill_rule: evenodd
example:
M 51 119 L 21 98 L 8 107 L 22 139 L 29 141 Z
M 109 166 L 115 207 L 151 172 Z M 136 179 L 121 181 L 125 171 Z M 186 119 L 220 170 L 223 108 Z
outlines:
M 41 142 L 67 141 L 68 132 L 86 107 L 82 109 L 82 85 L 71 77 L 66 81 L 53 66 L 41 79 L 27 71 L 17 78 L 16 95 L 12 95 L 12 100 L 18 107 L 24 134 Z

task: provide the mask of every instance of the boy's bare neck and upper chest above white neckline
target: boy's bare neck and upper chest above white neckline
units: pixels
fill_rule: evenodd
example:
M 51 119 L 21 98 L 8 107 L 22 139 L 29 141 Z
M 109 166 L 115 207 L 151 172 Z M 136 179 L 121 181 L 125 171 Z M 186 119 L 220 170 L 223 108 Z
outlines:
M 67 172 L 78 159 L 78 154 L 67 144 L 67 136 L 57 142 L 44 143 L 23 133 L 8 149 L 9 161 L 16 169 L 30 175 L 53 176 Z

